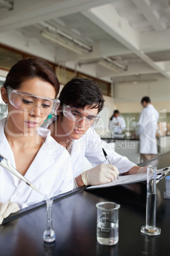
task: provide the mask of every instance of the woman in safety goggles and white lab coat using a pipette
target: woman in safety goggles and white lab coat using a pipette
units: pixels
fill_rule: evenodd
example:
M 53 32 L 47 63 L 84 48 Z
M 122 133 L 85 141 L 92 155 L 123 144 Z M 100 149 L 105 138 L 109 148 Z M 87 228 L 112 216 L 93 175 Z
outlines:
M 41 59 L 17 62 L 1 88 L 8 117 L 0 121 L 0 155 L 47 197 L 72 190 L 70 155 L 39 127 L 56 113 L 60 88 L 55 72 Z M 20 208 L 46 199 L 0 166 L 0 224 Z

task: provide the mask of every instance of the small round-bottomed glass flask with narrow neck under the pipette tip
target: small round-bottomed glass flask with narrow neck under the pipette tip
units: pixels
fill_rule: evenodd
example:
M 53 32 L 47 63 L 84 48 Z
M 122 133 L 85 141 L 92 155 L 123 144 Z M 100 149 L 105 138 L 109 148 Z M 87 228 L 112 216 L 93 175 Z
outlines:
M 46 243 L 53 243 L 55 241 L 55 231 L 52 227 L 52 205 L 53 200 L 48 199 L 46 200 L 47 206 L 47 229 L 44 231 L 43 239 Z

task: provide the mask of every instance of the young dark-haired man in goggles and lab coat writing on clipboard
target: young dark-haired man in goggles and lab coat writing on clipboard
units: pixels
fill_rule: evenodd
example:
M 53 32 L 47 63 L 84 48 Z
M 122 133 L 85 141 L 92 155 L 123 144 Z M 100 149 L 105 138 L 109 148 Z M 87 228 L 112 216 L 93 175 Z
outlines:
M 95 81 L 75 77 L 60 92 L 58 116 L 51 118 L 44 127 L 51 130 L 51 136 L 65 146 L 72 159 L 75 186 L 108 183 L 120 174 L 136 174 L 147 171 L 147 167 L 136 166 L 100 139 L 93 125 L 98 122 L 98 113 L 103 108 L 103 94 Z M 107 152 L 111 165 L 103 155 Z M 93 168 L 82 171 L 84 160 Z M 119 171 L 118 171 L 119 169 Z

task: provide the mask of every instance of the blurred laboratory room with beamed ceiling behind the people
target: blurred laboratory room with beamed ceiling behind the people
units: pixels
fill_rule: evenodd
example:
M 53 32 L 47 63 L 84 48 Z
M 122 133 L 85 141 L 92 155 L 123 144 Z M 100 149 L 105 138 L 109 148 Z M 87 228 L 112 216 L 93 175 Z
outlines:
M 170 148 L 170 3 L 150 1 L 0 1 L 0 86 L 13 64 L 41 57 L 61 89 L 74 76 L 96 80 L 105 107 L 95 130 L 118 153 L 140 162 L 134 131 L 148 96 L 159 112 L 157 147 Z M 0 103 L 0 118 L 6 106 Z M 109 119 L 126 122 L 113 134 Z

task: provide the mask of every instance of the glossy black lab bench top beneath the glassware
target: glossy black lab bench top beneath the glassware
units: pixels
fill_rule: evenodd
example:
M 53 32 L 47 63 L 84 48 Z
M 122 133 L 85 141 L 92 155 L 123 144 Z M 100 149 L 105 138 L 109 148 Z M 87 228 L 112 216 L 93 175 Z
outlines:
M 170 152 L 147 162 L 157 169 L 169 166 Z M 145 165 L 143 163 L 142 165 Z M 72 192 L 55 197 L 53 203 L 54 244 L 46 245 L 42 234 L 46 229 L 46 204 L 29 206 L 10 215 L 0 225 L 0 248 L 3 256 L 75 255 L 75 256 L 166 256 L 169 252 L 170 200 L 164 199 L 165 179 L 157 183 L 156 225 L 159 236 L 140 232 L 146 224 L 146 182 Z M 119 242 L 114 246 L 96 241 L 96 203 L 111 201 L 119 209 Z

